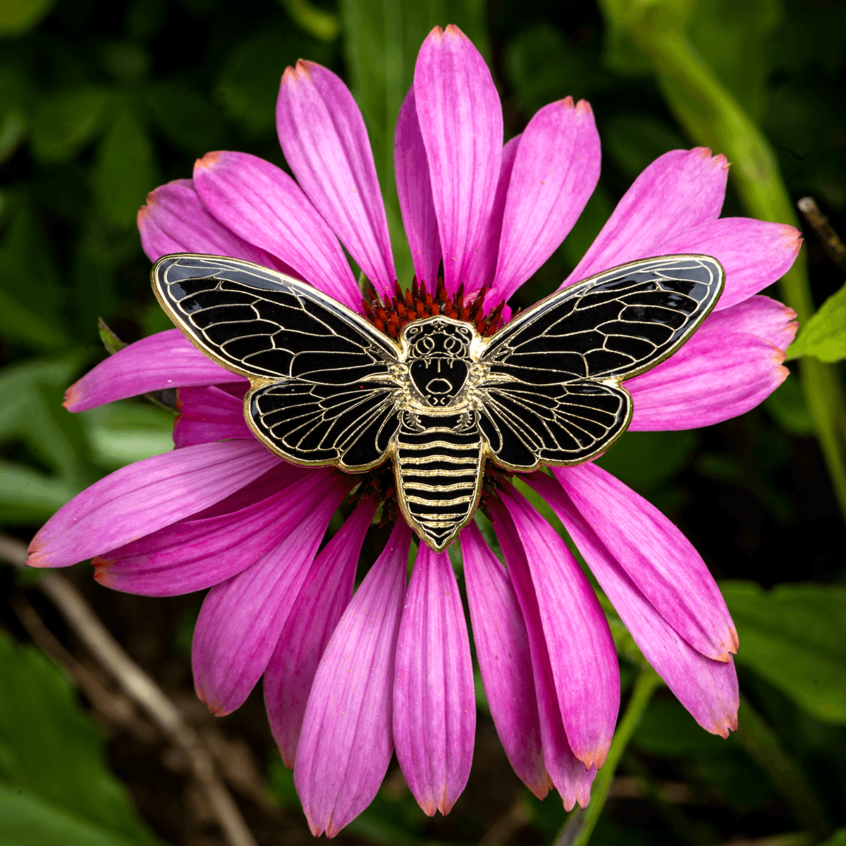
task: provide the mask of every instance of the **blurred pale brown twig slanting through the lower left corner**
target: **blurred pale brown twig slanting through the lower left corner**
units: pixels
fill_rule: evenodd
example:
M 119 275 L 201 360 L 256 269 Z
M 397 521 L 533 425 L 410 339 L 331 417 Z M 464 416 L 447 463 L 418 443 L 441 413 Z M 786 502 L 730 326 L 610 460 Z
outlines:
M 26 546 L 17 538 L 0 536 L 0 558 L 22 567 Z M 161 688 L 129 657 L 85 602 L 74 585 L 58 573 L 41 575 L 38 587 L 58 608 L 91 654 L 112 674 L 124 694 L 144 711 L 169 739 L 182 749 L 190 769 L 217 817 L 228 846 L 256 846 L 238 805 L 217 777 L 209 750 L 183 719 Z

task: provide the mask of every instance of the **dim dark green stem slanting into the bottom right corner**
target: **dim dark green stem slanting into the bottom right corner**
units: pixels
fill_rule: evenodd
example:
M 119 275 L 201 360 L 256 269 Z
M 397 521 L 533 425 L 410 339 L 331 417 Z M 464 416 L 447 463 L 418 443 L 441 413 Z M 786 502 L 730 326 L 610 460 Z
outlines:
M 778 735 L 743 695 L 740 697 L 735 737 L 755 763 L 772 778 L 796 821 L 812 832 L 817 841 L 824 838 L 828 832 L 826 815 L 808 786 L 805 774 Z

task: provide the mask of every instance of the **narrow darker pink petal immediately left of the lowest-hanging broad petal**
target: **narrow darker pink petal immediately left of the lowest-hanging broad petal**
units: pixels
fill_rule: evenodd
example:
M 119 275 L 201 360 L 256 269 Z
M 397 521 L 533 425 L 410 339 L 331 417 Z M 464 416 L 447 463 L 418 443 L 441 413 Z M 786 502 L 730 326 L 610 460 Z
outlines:
M 294 766 L 311 683 L 353 596 L 361 545 L 375 513 L 376 502 L 363 499 L 315 558 L 267 664 L 265 705 L 285 766 Z

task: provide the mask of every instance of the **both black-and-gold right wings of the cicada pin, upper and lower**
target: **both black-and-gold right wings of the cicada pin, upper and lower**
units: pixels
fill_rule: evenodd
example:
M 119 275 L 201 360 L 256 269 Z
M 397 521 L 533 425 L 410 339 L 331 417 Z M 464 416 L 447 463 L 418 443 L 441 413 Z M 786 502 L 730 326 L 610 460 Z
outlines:
M 621 387 L 672 355 L 722 293 L 708 255 L 634 261 L 541 300 L 493 335 L 480 357 L 480 426 L 497 464 L 579 464 L 625 431 Z

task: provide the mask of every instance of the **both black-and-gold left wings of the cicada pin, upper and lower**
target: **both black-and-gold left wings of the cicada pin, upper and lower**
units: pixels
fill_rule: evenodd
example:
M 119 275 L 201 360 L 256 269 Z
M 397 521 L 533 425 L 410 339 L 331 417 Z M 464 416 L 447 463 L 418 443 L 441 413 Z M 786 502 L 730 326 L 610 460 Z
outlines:
M 166 255 L 153 288 L 204 353 L 250 377 L 245 416 L 261 441 L 300 464 L 363 470 L 398 427 L 398 348 L 316 288 L 249 261 Z

